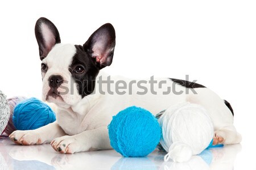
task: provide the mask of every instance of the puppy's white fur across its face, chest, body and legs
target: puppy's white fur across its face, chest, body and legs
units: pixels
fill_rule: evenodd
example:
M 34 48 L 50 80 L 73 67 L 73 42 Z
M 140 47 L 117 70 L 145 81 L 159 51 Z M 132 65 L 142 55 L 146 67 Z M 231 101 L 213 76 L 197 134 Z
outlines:
M 46 100 L 46 94 L 49 90 L 48 79 L 51 75 L 61 75 L 64 80 L 69 80 L 71 73 L 68 67 L 71 64 L 71 59 L 76 53 L 74 45 L 71 44 L 57 44 L 53 47 L 48 56 L 43 59 L 48 65 L 48 71 L 43 74 L 43 100 Z M 108 75 L 102 73 L 97 76 L 102 76 L 106 79 Z M 117 80 L 125 80 L 130 82 L 130 79 L 122 76 L 112 76 L 115 82 Z M 149 79 L 148 79 L 149 80 Z M 167 78 L 155 78 L 155 80 L 166 80 Z M 70 87 L 71 81 L 68 81 L 67 87 Z M 127 83 L 129 84 L 129 83 Z M 170 86 L 168 84 L 168 86 Z M 106 85 L 106 84 L 105 84 Z M 55 100 L 49 97 L 48 101 L 58 105 L 59 110 L 56 113 L 57 121 L 36 130 L 15 131 L 10 135 L 10 138 L 16 143 L 23 145 L 32 145 L 36 143 L 51 142 L 55 150 L 61 153 L 74 153 L 88 150 L 100 150 L 111 148 L 108 135 L 108 125 L 112 120 L 112 116 L 117 114 L 122 109 L 137 105 L 147 109 L 153 114 L 157 114 L 163 109 L 167 109 L 171 105 L 189 101 L 190 103 L 200 104 L 209 112 L 209 116 L 213 120 L 214 130 L 217 135 L 224 137 L 225 144 L 239 143 L 241 136 L 236 132 L 233 126 L 233 116 L 229 109 L 214 92 L 208 88 L 196 88 L 197 95 L 185 94 L 185 87 L 176 85 L 176 91 L 184 91 L 181 95 L 173 93 L 163 95 L 162 92 L 167 91 L 167 84 L 162 84 L 162 88 L 158 84 L 154 85 L 154 90 L 158 93 L 153 95 L 150 92 L 150 84 L 143 84 L 147 86 L 148 92 L 146 95 L 137 95 L 137 86 L 132 86 L 133 94 L 117 95 L 114 91 L 115 84 L 112 84 L 111 90 L 114 95 L 106 93 L 101 95 L 98 91 L 98 84 L 94 90 L 94 94 L 88 95 L 83 99 L 79 95 L 76 88 L 74 94 L 69 93 L 63 95 L 63 100 L 59 97 Z M 171 86 L 172 87 L 172 86 Z M 106 86 L 103 86 L 106 90 Z M 226 133 L 228 131 L 228 133 Z

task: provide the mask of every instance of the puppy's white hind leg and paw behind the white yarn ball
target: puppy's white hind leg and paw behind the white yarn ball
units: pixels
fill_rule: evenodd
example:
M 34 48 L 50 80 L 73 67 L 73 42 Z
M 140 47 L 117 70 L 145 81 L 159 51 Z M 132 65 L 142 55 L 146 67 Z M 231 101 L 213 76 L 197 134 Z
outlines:
M 215 131 L 213 145 L 240 143 L 242 137 L 234 128 L 233 114 L 224 100 L 208 88 L 198 88 L 196 92 L 197 94 L 188 95 L 187 101 L 199 104 L 207 109 L 210 118 L 212 118 Z

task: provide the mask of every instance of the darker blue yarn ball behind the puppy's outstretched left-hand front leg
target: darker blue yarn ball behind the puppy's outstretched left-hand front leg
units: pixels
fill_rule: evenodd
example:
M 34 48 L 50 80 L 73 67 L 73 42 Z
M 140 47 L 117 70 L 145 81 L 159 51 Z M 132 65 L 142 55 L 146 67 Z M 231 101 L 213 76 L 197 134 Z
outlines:
M 56 120 L 55 113 L 42 101 L 32 97 L 16 105 L 13 122 L 17 130 L 34 130 Z

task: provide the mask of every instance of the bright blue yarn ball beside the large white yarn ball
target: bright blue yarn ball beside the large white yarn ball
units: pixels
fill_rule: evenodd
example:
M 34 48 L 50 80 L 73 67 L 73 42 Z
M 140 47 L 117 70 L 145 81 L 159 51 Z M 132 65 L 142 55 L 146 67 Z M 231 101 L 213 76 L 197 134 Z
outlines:
M 135 106 L 113 116 L 108 128 L 110 145 L 125 157 L 147 156 L 155 150 L 161 137 L 154 115 Z

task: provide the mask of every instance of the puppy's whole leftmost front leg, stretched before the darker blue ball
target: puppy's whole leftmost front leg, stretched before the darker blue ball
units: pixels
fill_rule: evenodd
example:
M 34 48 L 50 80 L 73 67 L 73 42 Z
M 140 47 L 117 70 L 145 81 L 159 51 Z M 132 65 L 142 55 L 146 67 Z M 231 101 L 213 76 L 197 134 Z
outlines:
M 55 121 L 35 130 L 16 130 L 9 138 L 18 145 L 40 145 L 63 135 L 66 135 L 65 132 Z

